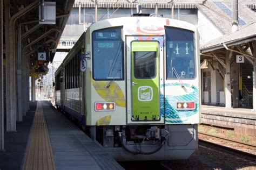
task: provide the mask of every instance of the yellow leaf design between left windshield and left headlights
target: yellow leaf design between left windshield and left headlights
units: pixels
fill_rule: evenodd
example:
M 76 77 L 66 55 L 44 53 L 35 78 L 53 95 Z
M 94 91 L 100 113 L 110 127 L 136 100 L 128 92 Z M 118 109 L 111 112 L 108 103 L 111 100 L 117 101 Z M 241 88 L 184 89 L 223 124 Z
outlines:
M 125 97 L 122 89 L 114 81 L 95 81 L 91 79 L 97 93 L 106 102 L 115 102 L 119 107 L 125 107 Z M 108 88 L 106 86 L 110 85 Z

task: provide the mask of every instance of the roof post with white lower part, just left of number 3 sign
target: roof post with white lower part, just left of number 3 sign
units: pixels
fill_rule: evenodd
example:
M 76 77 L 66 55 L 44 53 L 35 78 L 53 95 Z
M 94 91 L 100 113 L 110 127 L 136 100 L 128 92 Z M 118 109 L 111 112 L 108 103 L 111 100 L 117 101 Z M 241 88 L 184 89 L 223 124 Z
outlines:
M 225 107 L 232 108 L 231 103 L 231 69 L 230 69 L 230 58 L 232 56 L 232 52 L 229 52 L 226 57 L 226 73 L 225 73 Z

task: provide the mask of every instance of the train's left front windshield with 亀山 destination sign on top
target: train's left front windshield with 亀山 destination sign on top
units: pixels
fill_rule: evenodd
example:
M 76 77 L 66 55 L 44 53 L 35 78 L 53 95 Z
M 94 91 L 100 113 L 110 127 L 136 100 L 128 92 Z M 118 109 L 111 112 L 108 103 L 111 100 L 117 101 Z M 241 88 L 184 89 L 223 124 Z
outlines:
M 124 80 L 122 27 L 92 32 L 94 80 Z

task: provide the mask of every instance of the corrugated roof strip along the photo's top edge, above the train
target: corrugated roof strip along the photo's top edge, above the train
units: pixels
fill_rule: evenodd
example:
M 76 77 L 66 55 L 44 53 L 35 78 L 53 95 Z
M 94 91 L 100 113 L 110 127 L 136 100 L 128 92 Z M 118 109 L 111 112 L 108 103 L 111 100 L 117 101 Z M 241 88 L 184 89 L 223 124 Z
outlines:
M 136 8 L 138 4 L 142 5 L 142 8 L 171 8 L 171 0 L 98 0 L 98 8 Z M 203 3 L 203 0 L 173 0 L 174 8 L 181 9 L 195 9 L 197 4 Z M 76 0 L 73 7 L 78 8 L 79 4 L 83 8 L 95 8 L 95 0 Z

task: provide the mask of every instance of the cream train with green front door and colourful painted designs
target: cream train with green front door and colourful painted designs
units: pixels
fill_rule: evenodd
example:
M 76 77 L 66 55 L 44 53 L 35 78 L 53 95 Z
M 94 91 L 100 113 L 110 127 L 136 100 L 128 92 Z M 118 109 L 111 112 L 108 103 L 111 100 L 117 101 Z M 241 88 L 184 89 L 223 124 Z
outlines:
M 93 23 L 55 73 L 56 107 L 117 161 L 189 158 L 200 89 L 197 27 L 162 17 Z

